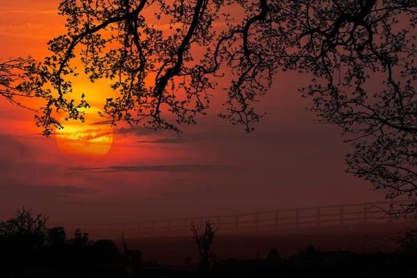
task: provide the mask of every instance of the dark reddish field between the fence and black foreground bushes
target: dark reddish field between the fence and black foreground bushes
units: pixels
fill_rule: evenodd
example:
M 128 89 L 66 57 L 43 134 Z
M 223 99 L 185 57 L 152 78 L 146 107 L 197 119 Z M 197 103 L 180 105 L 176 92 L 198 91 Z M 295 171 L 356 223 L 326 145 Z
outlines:
M 213 252 L 220 259 L 265 259 L 272 248 L 281 256 L 292 256 L 312 244 L 322 251 L 351 250 L 352 252 L 389 251 L 395 247 L 390 236 L 395 232 L 378 234 L 283 234 L 262 236 L 218 236 L 213 243 Z M 120 240 L 117 240 L 120 244 Z M 156 259 L 158 263 L 186 265 L 190 256 L 197 263 L 197 247 L 193 238 L 131 238 L 129 247 L 139 249 L 145 261 Z

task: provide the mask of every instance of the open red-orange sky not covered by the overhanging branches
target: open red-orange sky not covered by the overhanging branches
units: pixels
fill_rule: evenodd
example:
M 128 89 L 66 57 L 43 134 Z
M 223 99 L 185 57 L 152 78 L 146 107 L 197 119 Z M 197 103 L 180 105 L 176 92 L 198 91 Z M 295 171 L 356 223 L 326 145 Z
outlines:
M 48 40 L 65 33 L 59 2 L 0 0 L 0 58 L 47 56 Z M 0 99 L 0 219 L 22 206 L 55 221 L 120 222 L 382 201 L 370 183 L 344 172 L 352 149 L 336 126 L 312 121 L 311 100 L 297 92 L 309 80 L 277 74 L 256 104 L 267 115 L 253 133 L 218 118 L 223 107 L 213 106 L 179 137 L 110 129 L 97 115 L 111 94 L 106 81 L 80 76 L 74 89 L 93 106 L 83 129 L 111 131 L 106 154 L 93 161 L 82 155 L 103 142 L 68 147 L 65 138 L 44 138 L 31 111 Z M 215 103 L 222 94 L 213 92 Z

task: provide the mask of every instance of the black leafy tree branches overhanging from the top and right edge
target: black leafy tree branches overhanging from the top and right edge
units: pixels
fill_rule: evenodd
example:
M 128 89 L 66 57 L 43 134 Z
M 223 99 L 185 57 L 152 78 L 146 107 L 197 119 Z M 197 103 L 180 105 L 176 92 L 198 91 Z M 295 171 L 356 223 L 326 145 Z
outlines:
M 84 96 L 67 98 L 77 58 L 92 82 L 113 81 L 101 114 L 112 124 L 174 131 L 206 113 L 225 70 L 234 77 L 220 117 L 246 131 L 263 117 L 254 103 L 279 71 L 308 72 L 300 91 L 318 121 L 350 135 L 347 171 L 389 198 L 407 195 L 413 204 L 403 212 L 415 211 L 416 1 L 65 0 L 59 11 L 67 33 L 49 42 L 51 56 L 33 68 L 38 79 L 25 83 L 40 92 L 48 81 L 57 92 L 44 92 L 45 135 L 62 127 L 54 111 L 83 120 L 89 107 Z

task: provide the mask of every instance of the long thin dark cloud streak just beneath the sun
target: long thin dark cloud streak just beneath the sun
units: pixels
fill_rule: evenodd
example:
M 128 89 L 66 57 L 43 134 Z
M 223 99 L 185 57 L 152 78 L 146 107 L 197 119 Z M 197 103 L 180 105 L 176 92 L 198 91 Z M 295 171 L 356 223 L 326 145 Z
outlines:
M 90 172 L 174 172 L 174 173 L 210 173 L 210 172 L 243 172 L 244 167 L 231 165 L 147 165 L 147 166 L 110 166 L 110 167 L 85 167 L 70 168 L 74 171 Z

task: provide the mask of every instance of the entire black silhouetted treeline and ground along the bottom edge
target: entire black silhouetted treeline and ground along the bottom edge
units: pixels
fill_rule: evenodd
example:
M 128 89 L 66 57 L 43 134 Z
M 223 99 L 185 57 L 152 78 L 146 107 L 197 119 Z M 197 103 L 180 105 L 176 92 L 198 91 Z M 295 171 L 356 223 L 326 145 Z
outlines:
M 355 253 L 344 250 L 323 252 L 313 245 L 284 258 L 272 248 L 265 259 L 219 258 L 211 252 L 215 224 L 207 221 L 199 230 L 190 227 L 199 263 L 190 257 L 179 268 L 142 261 L 139 250 L 131 250 L 121 236 L 122 246 L 113 240 L 89 239 L 76 229 L 67 236 L 63 227 L 47 227 L 44 213 L 34 215 L 22 208 L 15 218 L 0 222 L 0 277 L 416 277 L 417 231 L 407 229 L 395 238 L 390 253 Z M 165 252 L 175 253 L 166 247 Z

